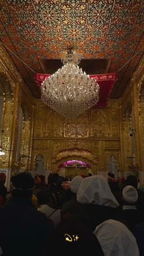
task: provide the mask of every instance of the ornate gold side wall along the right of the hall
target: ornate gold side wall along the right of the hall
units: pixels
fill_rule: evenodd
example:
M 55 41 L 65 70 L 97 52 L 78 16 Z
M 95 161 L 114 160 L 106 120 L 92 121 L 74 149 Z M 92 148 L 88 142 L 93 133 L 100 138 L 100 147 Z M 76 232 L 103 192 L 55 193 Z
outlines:
M 121 166 L 144 183 L 144 57 L 120 98 Z M 133 130 L 132 136 L 130 132 Z

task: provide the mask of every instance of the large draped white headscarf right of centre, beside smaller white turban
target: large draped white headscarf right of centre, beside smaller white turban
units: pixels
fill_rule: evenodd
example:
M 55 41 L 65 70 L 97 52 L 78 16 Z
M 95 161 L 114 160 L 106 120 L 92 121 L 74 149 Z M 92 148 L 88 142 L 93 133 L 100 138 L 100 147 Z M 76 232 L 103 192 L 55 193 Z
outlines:
M 119 203 L 113 196 L 106 178 L 94 175 L 84 178 L 77 191 L 79 203 L 92 203 L 116 208 Z

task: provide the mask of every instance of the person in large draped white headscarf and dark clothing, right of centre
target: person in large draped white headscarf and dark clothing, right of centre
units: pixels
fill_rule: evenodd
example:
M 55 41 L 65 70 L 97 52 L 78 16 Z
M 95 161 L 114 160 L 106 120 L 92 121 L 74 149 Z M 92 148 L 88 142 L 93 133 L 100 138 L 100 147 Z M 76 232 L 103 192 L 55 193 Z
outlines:
M 117 218 L 119 204 L 106 178 L 98 175 L 84 178 L 76 196 L 80 207 L 74 218 L 87 224 L 92 231 L 103 221 Z

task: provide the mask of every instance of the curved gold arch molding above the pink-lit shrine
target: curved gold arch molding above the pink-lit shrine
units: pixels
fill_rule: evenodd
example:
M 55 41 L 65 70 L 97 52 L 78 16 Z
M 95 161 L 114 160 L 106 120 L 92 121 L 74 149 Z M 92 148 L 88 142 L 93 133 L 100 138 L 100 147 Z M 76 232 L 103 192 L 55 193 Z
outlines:
M 94 166 L 98 164 L 98 159 L 92 152 L 84 148 L 67 148 L 65 150 L 60 150 L 56 156 L 52 158 L 52 169 L 57 170 L 59 165 L 65 161 L 73 160 L 83 161 L 88 164 L 88 166 L 94 169 Z

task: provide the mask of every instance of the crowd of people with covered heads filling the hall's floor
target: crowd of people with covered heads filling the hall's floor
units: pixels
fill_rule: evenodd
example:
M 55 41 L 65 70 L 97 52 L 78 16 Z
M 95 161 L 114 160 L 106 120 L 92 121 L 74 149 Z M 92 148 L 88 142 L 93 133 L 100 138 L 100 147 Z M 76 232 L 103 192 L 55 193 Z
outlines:
M 144 186 L 99 175 L 19 172 L 5 188 L 0 174 L 0 255 L 144 255 Z M 67 180 L 66 180 L 67 181 Z

